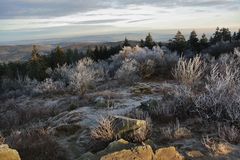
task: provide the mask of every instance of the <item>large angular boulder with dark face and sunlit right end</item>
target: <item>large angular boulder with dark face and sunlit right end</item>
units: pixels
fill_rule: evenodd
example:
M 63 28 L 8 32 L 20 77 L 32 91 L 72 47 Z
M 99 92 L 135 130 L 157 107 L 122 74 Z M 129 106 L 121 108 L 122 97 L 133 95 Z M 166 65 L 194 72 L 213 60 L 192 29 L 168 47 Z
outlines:
M 127 140 L 134 135 L 144 135 L 148 129 L 145 120 L 132 119 L 123 116 L 114 116 L 113 126 L 115 135 Z

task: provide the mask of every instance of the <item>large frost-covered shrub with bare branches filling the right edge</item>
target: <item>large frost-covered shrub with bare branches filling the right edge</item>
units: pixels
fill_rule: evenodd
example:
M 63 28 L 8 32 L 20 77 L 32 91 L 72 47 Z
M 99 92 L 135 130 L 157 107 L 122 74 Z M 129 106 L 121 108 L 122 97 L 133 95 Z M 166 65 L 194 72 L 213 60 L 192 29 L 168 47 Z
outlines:
M 230 58 L 230 59 L 229 59 Z M 239 57 L 220 59 L 207 76 L 205 92 L 195 100 L 197 112 L 208 120 L 240 120 Z

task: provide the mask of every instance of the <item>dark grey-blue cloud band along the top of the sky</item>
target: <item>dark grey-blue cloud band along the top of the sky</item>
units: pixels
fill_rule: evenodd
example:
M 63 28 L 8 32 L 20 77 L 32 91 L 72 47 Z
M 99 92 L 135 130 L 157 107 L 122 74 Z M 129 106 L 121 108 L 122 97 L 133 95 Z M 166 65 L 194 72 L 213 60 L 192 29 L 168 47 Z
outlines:
M 3 0 L 0 2 L 0 19 L 46 18 L 85 13 L 98 9 L 125 8 L 129 5 L 171 7 L 234 7 L 239 0 Z M 132 8 L 134 10 L 134 8 Z M 137 10 L 138 8 L 135 7 Z

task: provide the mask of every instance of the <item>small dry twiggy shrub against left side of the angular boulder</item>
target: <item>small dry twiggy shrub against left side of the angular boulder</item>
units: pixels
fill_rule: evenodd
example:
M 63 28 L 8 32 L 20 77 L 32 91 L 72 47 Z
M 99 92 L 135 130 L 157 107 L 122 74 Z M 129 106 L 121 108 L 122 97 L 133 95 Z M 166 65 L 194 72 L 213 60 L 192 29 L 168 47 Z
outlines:
M 91 130 L 91 138 L 102 142 L 114 140 L 113 119 L 111 117 L 102 117 L 98 122 L 98 127 Z

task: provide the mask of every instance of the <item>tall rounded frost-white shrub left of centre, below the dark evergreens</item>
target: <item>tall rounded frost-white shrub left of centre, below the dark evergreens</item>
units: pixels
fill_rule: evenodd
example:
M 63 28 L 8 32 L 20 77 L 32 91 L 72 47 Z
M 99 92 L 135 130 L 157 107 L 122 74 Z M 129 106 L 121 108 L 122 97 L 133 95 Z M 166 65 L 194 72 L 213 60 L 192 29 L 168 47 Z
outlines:
M 83 95 L 97 78 L 97 71 L 93 68 L 93 60 L 80 60 L 70 73 L 70 87 L 73 91 Z

